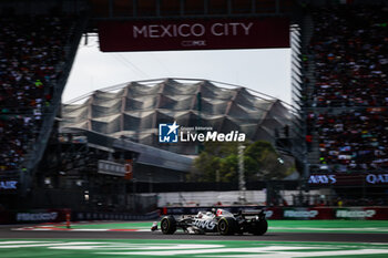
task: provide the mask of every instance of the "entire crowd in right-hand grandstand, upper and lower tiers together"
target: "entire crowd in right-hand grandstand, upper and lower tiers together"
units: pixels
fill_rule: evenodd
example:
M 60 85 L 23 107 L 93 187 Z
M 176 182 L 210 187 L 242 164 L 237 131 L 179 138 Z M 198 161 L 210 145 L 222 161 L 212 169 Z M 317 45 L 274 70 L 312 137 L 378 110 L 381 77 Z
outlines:
M 318 137 L 320 167 L 388 169 L 388 9 L 337 6 L 313 12 L 315 63 L 307 144 Z

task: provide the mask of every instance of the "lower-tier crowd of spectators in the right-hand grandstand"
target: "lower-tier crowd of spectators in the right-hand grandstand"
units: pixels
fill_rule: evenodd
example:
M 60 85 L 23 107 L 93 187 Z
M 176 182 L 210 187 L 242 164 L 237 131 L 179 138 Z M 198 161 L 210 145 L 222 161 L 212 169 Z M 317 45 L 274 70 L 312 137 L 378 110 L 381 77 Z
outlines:
M 388 113 L 381 109 L 309 115 L 319 137 L 320 163 L 335 172 L 388 168 Z

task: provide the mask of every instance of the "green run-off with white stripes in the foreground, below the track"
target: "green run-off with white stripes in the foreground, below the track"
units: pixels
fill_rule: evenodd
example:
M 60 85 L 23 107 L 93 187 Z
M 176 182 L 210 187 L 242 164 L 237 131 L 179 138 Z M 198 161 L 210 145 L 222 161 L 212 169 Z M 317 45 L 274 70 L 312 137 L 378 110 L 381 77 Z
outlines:
M 287 242 L 242 240 L 141 239 L 8 239 L 0 240 L 1 258 L 382 258 L 388 244 Z

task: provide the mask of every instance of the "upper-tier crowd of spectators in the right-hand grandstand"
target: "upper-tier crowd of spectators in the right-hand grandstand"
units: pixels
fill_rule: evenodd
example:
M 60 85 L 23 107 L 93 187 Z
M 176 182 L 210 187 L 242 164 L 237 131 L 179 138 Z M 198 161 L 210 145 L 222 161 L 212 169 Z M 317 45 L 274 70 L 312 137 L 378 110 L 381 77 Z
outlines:
M 387 8 L 376 6 L 314 13 L 313 106 L 388 106 L 387 16 Z

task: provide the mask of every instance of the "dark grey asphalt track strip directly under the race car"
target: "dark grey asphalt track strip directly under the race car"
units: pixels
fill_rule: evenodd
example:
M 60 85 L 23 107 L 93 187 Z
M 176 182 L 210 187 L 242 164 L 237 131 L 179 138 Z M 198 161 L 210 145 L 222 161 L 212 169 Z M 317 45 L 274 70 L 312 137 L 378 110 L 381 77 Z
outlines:
M 187 235 L 175 233 L 163 235 L 161 231 L 22 231 L 11 230 L 16 226 L 0 227 L 2 239 L 196 239 L 196 240 L 255 240 L 255 241 L 338 241 L 338 242 L 388 242 L 387 234 L 369 233 L 270 233 L 264 236 L 252 235 Z

